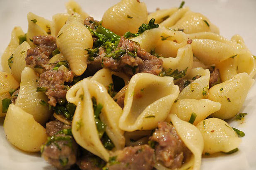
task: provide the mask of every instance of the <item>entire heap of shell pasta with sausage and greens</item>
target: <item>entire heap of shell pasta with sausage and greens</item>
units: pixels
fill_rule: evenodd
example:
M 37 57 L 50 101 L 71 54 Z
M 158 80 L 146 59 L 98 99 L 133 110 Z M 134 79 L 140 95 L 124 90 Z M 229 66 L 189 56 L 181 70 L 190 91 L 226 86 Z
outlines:
M 200 170 L 202 154 L 238 151 L 245 134 L 224 120 L 244 120 L 256 57 L 183 5 L 29 12 L 1 59 L 7 140 L 59 170 Z

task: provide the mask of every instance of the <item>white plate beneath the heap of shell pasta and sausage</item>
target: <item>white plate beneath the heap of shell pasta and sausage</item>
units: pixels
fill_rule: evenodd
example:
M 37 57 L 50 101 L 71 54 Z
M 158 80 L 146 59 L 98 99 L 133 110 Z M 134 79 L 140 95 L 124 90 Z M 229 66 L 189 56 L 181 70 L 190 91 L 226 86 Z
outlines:
M 56 13 L 65 12 L 67 0 L 0 0 L 0 56 L 10 41 L 14 26 L 21 26 L 27 32 L 27 13 L 51 19 Z M 95 19 L 101 19 L 104 11 L 118 0 L 77 0 L 85 12 Z M 157 7 L 178 7 L 180 0 L 145 0 L 148 11 Z M 193 0 L 186 1 L 192 11 L 204 14 L 220 28 L 220 34 L 231 38 L 240 34 L 253 54 L 256 54 L 256 0 Z M 245 132 L 239 152 L 203 158 L 201 170 L 256 170 L 256 84 L 253 85 L 244 102 L 241 112 L 248 113 L 245 123 L 231 122 L 233 127 Z M 0 170 L 55 170 L 40 158 L 39 154 L 19 151 L 9 144 L 0 118 Z

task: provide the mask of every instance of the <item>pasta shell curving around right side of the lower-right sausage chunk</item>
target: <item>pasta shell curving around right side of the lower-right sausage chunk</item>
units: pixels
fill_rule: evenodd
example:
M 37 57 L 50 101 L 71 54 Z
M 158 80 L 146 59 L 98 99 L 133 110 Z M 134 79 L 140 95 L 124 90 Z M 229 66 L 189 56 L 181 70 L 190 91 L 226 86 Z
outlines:
M 201 156 L 204 148 L 202 134 L 196 128 L 196 126 L 179 119 L 174 114 L 171 115 L 170 119 L 181 140 L 193 153 L 190 160 L 187 160 L 181 166 L 181 168 L 176 168 L 176 170 L 200 170 Z M 170 170 L 169 168 L 165 168 L 160 163 L 156 163 L 155 168 L 157 170 Z

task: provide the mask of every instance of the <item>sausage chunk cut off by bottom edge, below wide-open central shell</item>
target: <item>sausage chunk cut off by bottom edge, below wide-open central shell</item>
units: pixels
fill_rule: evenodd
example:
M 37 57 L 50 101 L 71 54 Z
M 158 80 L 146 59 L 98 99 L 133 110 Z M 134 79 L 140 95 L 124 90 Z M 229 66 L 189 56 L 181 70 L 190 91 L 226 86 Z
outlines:
M 109 170 L 152 170 L 154 149 L 148 145 L 129 146 L 113 153 L 116 163 L 107 164 Z

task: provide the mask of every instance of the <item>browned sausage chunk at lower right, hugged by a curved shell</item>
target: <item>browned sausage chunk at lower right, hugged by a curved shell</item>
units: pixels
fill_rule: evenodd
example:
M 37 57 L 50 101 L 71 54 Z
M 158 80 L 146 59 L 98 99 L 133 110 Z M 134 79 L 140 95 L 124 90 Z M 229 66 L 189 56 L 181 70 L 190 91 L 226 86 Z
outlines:
M 157 142 L 156 160 L 167 168 L 180 168 L 191 156 L 191 151 L 185 146 L 174 126 L 167 122 L 158 123 L 158 128 L 150 137 L 150 141 Z

